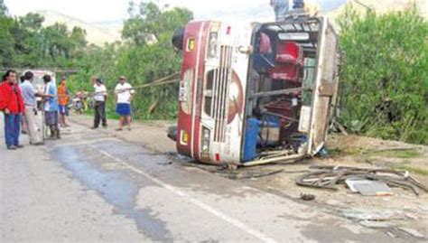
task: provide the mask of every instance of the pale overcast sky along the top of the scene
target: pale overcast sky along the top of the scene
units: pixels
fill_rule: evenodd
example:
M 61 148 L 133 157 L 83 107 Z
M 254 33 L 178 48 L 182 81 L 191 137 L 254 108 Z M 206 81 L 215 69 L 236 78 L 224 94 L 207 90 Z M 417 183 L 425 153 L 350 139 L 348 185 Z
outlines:
M 339 5 L 345 0 L 312 0 L 326 7 Z M 51 10 L 70 15 L 88 23 L 109 22 L 126 19 L 128 0 L 5 0 L 10 14 L 23 15 L 36 10 Z M 135 0 L 139 2 L 139 0 Z M 228 15 L 233 18 L 244 14 L 273 16 L 269 0 L 157 0 L 161 5 L 185 6 L 193 11 L 196 18 Z M 246 10 L 246 11 L 243 11 Z M 255 13 L 256 12 L 256 13 Z M 250 16 L 251 17 L 251 16 Z

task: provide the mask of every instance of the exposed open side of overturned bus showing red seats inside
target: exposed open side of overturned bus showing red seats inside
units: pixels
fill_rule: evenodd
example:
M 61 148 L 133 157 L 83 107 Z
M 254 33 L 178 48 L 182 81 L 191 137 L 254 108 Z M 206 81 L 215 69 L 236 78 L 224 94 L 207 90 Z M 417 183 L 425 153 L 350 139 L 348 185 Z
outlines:
M 319 18 L 289 18 L 257 26 L 247 85 L 246 165 L 293 162 L 322 149 L 333 115 L 339 64 L 337 37 L 327 24 Z M 327 45 L 330 52 L 325 52 Z M 322 63 L 326 58 L 330 63 Z M 330 93 L 314 92 L 328 85 Z M 318 104 L 322 96 L 330 99 L 327 107 Z M 312 107 L 324 110 L 313 112 Z M 314 144 L 320 134 L 321 145 Z

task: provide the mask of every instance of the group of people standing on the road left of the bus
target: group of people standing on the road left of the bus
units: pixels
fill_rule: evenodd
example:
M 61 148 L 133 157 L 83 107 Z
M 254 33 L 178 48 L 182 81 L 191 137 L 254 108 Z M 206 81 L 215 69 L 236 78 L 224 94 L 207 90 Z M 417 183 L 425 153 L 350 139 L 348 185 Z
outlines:
M 7 70 L 0 83 L 0 111 L 5 117 L 5 144 L 8 150 L 22 148 L 19 142 L 22 124 L 26 127 L 30 145 L 43 145 L 42 137 L 37 125 L 37 97 L 42 98 L 42 110 L 44 112 L 44 123 L 51 131 L 52 139 L 60 139 L 60 127 L 69 126 L 66 117 L 69 116 L 70 94 L 66 86 L 66 77 L 60 79 L 57 88 L 55 81 L 50 75 L 42 77 L 44 82 L 43 91 L 33 86 L 33 72 L 27 71 L 21 77 L 21 84 L 17 81 L 17 73 Z M 93 98 L 95 101 L 94 126 L 97 129 L 101 125 L 107 128 L 106 102 L 107 88 L 104 81 L 99 78 L 93 80 Z M 118 131 L 131 130 L 131 101 L 135 90 L 121 76 L 115 89 L 116 114 L 120 116 Z

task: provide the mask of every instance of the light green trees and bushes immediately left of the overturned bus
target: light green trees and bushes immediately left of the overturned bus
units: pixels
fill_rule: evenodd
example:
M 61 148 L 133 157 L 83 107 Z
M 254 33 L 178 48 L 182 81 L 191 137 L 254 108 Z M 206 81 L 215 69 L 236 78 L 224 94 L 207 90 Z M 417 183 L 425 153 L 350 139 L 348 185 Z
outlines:
M 90 46 L 79 62 L 79 73 L 73 88 L 91 90 L 88 80 L 101 77 L 107 89 L 114 89 L 116 80 L 124 75 L 133 86 L 162 79 L 180 70 L 181 53 L 172 46 L 172 33 L 192 19 L 192 13 L 182 8 L 161 11 L 153 3 L 129 5 L 129 19 L 124 23 L 122 42 Z M 133 102 L 136 118 L 165 119 L 177 114 L 178 85 L 137 89 Z M 112 99 L 107 110 L 113 113 Z

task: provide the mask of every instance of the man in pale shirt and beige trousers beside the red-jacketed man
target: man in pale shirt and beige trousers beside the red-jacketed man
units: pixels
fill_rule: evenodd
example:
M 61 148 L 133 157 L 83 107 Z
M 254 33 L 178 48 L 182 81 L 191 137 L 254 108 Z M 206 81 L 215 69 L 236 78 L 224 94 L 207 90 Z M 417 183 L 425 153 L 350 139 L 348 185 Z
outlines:
M 37 133 L 36 117 L 34 116 L 36 109 L 36 96 L 42 97 L 33 86 L 33 72 L 27 71 L 23 75 L 23 83 L 19 88 L 23 94 L 23 104 L 25 105 L 25 112 L 23 113 L 23 122 L 27 127 L 28 136 L 30 138 L 30 145 L 43 145 L 42 139 Z

